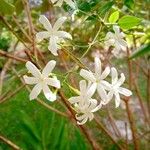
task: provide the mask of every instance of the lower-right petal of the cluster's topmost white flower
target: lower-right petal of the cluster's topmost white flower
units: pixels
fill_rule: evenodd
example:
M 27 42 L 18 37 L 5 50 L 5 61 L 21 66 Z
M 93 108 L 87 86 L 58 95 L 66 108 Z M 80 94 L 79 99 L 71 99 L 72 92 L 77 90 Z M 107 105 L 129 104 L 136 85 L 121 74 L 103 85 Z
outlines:
M 102 101 L 107 101 L 108 100 L 107 93 L 106 93 L 105 89 L 103 88 L 103 86 L 101 84 L 98 84 L 97 92 L 98 92 L 100 98 L 102 99 Z

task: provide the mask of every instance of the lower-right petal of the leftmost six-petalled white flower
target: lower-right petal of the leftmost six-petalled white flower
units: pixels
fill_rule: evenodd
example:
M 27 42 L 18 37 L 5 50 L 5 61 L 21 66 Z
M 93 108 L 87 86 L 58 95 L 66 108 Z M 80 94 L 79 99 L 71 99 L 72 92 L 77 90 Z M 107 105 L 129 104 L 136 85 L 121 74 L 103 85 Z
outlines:
M 52 93 L 52 91 L 49 89 L 49 87 L 45 84 L 43 85 L 43 92 L 45 97 L 49 100 L 49 101 L 55 101 L 56 100 L 56 94 Z

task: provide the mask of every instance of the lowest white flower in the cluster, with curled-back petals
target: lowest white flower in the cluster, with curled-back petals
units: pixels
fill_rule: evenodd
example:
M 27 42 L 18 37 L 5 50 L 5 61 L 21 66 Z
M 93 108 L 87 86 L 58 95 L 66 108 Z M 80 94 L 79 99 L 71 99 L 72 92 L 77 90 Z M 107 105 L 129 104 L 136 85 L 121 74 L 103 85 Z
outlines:
M 97 100 L 91 99 L 88 105 L 84 105 L 80 107 L 76 105 L 76 109 L 78 110 L 78 114 L 76 114 L 77 124 L 83 125 L 88 120 L 91 121 L 94 118 L 94 112 L 101 108 L 101 103 L 97 105 Z

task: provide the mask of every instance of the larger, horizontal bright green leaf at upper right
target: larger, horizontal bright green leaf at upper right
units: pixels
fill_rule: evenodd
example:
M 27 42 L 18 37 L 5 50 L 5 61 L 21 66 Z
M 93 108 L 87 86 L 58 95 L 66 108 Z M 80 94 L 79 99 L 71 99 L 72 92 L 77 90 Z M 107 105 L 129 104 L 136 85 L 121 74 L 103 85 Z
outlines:
M 134 26 L 137 26 L 141 22 L 141 19 L 135 16 L 123 16 L 119 19 L 118 24 L 122 29 L 131 29 Z

